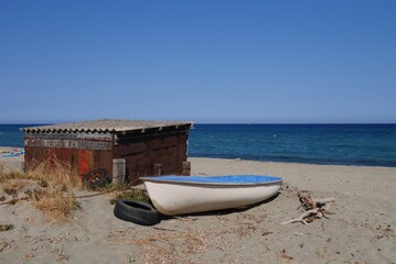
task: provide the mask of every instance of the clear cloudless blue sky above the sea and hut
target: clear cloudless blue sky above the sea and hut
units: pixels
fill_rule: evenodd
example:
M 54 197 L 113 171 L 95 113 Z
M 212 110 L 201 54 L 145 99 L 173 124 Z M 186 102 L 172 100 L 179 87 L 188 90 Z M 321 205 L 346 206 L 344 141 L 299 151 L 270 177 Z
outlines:
M 396 122 L 396 1 L 0 1 L 0 123 Z

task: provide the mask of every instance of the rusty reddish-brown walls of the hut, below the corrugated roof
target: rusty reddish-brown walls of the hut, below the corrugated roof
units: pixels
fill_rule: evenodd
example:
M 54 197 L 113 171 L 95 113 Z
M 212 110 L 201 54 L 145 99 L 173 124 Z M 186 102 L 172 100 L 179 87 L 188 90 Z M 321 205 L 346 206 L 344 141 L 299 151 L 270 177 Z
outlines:
M 114 141 L 115 139 L 116 142 Z M 25 133 L 25 166 L 57 158 L 72 169 L 85 175 L 95 168 L 113 173 L 113 160 L 125 158 L 127 180 L 140 184 L 139 177 L 158 175 L 154 164 L 163 175 L 182 175 L 186 161 L 188 129 L 156 132 L 88 134 L 88 133 Z

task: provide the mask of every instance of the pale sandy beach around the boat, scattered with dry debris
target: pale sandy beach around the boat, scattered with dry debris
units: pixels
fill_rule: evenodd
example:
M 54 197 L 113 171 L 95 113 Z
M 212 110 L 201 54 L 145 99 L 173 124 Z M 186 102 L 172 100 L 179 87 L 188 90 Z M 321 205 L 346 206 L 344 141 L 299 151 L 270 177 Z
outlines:
M 22 161 L 0 157 L 14 168 Z M 81 209 L 67 223 L 49 222 L 29 201 L 1 205 L 0 224 L 14 229 L 0 233 L 0 263 L 396 263 L 395 167 L 190 161 L 193 175 L 272 175 L 283 188 L 249 209 L 163 218 L 154 227 L 115 218 L 110 195 L 77 198 Z M 335 215 L 280 224 L 301 215 L 299 190 L 334 197 Z

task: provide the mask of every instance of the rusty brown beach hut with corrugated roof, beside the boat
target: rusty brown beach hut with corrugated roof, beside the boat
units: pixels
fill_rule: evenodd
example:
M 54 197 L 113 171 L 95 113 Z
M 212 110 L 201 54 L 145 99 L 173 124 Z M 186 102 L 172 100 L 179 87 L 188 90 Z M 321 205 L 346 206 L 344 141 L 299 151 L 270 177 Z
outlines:
M 23 128 L 25 167 L 56 158 L 82 177 L 101 169 L 131 184 L 139 184 L 140 176 L 190 175 L 186 160 L 192 125 L 106 119 Z

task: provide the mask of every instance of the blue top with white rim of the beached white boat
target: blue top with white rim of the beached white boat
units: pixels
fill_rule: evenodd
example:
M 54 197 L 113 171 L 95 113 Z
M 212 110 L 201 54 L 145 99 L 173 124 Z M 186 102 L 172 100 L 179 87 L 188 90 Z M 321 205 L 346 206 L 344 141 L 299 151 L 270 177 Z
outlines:
M 228 175 L 228 176 L 158 176 L 141 177 L 143 182 L 200 184 L 200 185 L 234 185 L 251 186 L 281 183 L 282 178 L 264 175 Z

